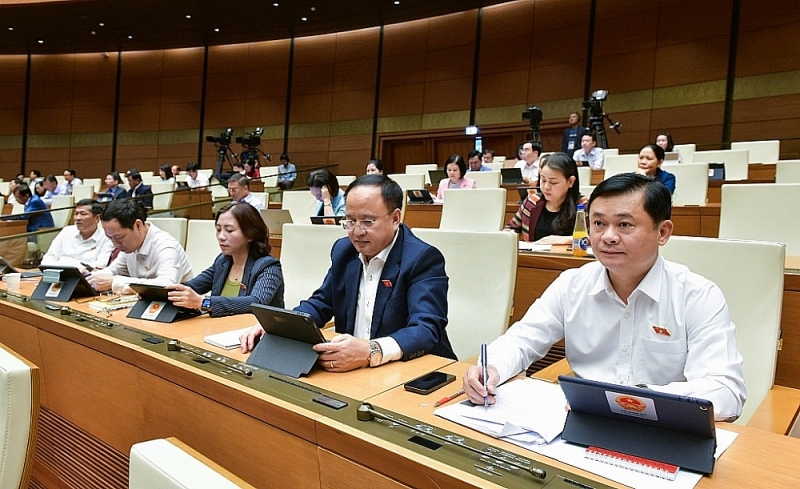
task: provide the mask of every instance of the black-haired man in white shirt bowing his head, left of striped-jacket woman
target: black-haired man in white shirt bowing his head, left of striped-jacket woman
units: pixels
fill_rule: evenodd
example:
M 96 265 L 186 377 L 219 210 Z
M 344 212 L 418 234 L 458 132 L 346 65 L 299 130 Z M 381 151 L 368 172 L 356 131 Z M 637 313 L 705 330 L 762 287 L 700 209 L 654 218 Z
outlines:
M 128 284 L 179 284 L 191 279 L 192 266 L 178 241 L 147 221 L 147 209 L 131 199 L 112 200 L 102 216 L 103 229 L 119 255 L 87 280 L 95 290 L 128 293 Z

